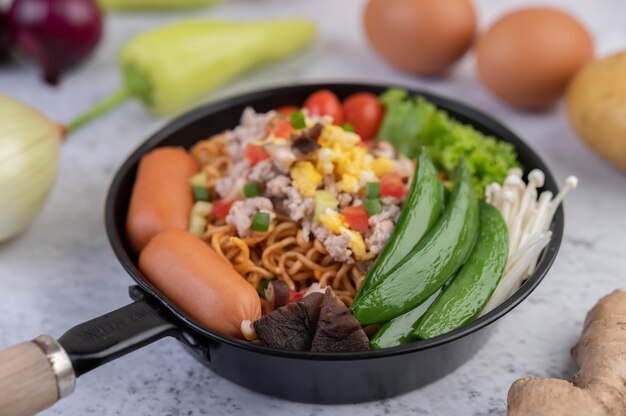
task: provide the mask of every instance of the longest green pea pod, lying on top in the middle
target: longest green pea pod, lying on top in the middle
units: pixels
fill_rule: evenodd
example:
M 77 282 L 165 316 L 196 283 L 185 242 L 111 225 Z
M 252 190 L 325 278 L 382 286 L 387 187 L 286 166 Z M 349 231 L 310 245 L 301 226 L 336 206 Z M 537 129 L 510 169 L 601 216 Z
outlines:
M 454 274 L 478 232 L 478 198 L 464 162 L 443 215 L 411 252 L 352 304 L 362 325 L 386 322 L 420 303 Z

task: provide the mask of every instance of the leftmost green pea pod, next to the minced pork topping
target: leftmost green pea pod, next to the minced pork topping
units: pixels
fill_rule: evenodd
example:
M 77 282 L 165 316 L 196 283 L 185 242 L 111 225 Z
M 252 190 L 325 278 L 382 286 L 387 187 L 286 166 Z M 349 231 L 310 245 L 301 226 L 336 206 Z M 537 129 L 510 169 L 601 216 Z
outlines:
M 443 199 L 437 170 L 425 149 L 422 149 L 411 189 L 400 218 L 383 251 L 365 276 L 356 294 L 358 300 L 382 276 L 398 264 L 437 222 Z

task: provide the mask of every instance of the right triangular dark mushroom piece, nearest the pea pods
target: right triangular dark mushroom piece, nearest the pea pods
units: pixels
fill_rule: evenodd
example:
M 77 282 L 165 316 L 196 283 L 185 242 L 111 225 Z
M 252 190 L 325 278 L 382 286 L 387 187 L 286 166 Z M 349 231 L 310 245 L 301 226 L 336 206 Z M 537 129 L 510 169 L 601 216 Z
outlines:
M 350 309 L 326 289 L 311 352 L 369 351 L 370 342 Z

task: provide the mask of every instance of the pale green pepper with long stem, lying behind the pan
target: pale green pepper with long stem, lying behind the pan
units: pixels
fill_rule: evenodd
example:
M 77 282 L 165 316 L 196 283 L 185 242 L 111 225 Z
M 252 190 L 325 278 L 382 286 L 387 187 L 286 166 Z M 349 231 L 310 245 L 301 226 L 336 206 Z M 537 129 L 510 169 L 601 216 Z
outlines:
M 181 111 L 232 78 L 284 58 L 315 36 L 309 20 L 186 21 L 147 31 L 120 52 L 124 85 L 78 116 L 70 131 L 140 98 L 157 115 Z

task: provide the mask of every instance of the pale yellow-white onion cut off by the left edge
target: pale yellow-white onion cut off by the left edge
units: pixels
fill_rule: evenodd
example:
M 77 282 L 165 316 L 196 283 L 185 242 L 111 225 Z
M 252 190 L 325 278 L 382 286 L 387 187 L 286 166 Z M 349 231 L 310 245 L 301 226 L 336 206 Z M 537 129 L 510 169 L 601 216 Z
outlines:
M 0 242 L 24 231 L 54 185 L 65 127 L 0 95 Z

